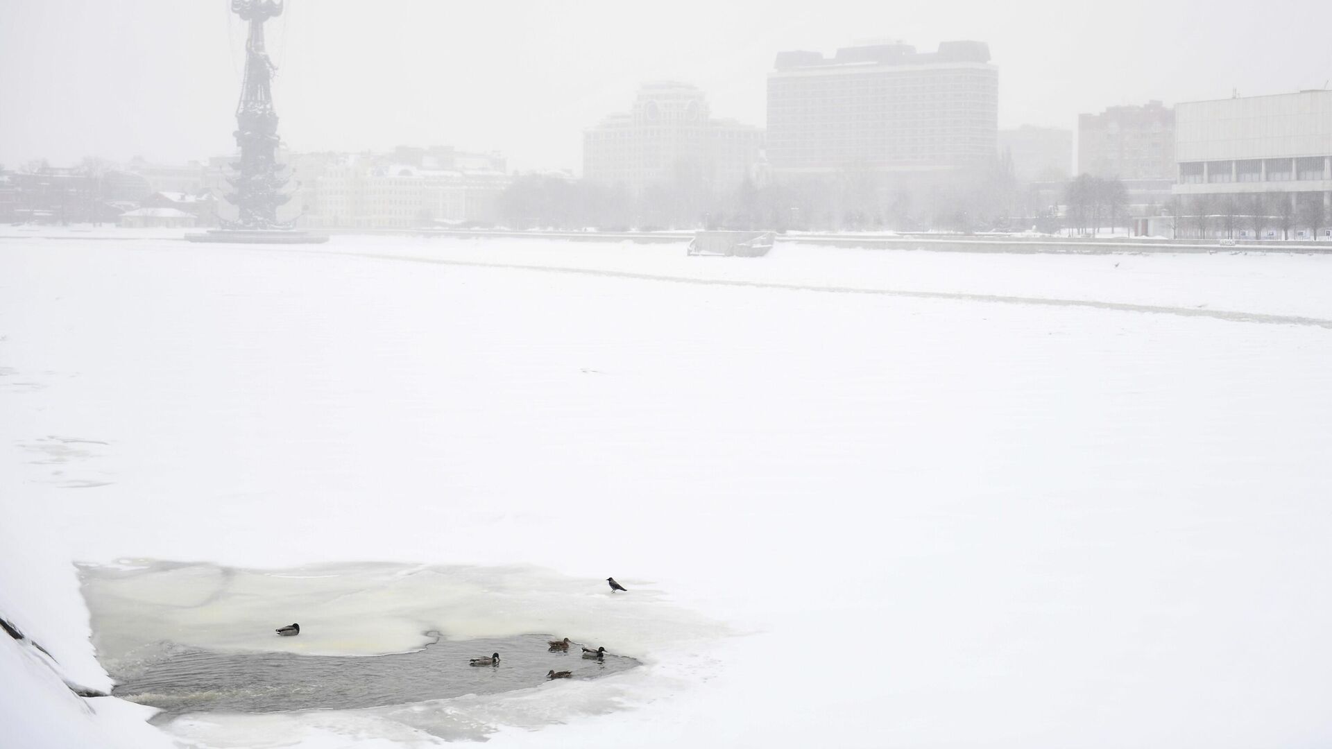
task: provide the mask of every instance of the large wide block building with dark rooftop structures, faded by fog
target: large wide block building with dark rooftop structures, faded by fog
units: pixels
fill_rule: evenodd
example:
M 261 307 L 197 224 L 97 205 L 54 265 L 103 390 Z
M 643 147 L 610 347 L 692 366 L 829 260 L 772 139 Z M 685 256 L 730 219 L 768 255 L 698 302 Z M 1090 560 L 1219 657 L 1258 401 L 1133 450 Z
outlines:
M 995 159 L 999 69 L 980 41 L 781 52 L 767 76 L 775 175 L 924 175 Z

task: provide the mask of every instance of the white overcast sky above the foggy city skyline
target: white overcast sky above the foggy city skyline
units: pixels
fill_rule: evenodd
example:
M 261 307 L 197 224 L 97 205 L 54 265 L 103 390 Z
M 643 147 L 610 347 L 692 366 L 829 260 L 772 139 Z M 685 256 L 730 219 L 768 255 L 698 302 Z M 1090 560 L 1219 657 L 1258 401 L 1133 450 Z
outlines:
M 229 0 L 0 0 L 0 164 L 229 153 L 244 25 Z M 573 168 L 646 80 L 762 125 L 782 49 L 990 44 L 1000 127 L 1162 99 L 1323 88 L 1332 0 L 289 0 L 268 24 L 296 151 L 396 144 Z

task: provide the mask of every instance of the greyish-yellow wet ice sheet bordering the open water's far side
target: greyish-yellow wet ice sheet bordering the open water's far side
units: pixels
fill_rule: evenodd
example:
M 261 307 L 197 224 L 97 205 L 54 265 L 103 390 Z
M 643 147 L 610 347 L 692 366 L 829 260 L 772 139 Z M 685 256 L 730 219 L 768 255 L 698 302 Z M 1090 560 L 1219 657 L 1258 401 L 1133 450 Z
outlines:
M 531 566 L 341 562 L 285 570 L 194 562 L 87 565 L 84 597 L 99 657 L 120 662 L 161 642 L 208 650 L 329 656 L 404 653 L 433 640 L 549 633 L 625 656 L 727 636 L 727 628 L 650 589 Z M 298 637 L 276 626 L 301 624 Z M 594 645 L 594 646 L 595 646 Z

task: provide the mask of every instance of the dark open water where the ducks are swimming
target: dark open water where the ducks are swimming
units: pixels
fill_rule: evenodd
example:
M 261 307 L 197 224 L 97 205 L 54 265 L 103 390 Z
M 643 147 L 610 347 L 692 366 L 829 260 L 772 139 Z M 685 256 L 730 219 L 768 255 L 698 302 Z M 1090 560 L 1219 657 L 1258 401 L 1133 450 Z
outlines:
M 429 633 L 438 637 L 437 633 Z M 570 652 L 549 653 L 554 637 L 523 634 L 496 640 L 437 640 L 414 653 L 389 656 L 300 656 L 220 653 L 174 648 L 141 672 L 117 676 L 116 697 L 168 713 L 330 710 L 401 705 L 462 694 L 494 694 L 546 682 L 547 670 L 597 678 L 638 665 L 607 653 L 602 661 Z M 498 666 L 470 666 L 469 658 L 500 653 Z M 137 670 L 137 669 L 136 669 Z M 563 680 L 559 680 L 563 681 Z

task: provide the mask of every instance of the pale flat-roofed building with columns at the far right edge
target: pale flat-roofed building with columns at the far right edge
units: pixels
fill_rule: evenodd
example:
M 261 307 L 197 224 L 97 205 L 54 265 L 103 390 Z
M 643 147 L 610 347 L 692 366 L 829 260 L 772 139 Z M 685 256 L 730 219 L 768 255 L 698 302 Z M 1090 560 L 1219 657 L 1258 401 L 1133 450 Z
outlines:
M 1179 104 L 1175 153 L 1181 200 L 1213 212 L 1260 209 L 1283 229 L 1328 239 L 1332 91 Z

